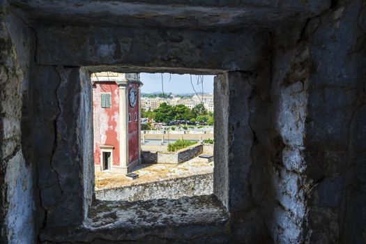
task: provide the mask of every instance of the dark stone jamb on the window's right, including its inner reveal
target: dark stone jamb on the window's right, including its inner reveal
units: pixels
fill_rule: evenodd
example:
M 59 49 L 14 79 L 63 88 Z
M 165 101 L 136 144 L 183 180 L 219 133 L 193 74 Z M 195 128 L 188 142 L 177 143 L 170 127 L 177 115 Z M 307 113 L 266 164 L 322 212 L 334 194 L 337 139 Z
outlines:
M 270 70 L 260 71 L 229 72 L 215 78 L 213 189 L 236 216 L 232 220 L 234 240 L 245 243 L 268 242 L 262 204 L 268 189 L 266 165 L 271 151 Z

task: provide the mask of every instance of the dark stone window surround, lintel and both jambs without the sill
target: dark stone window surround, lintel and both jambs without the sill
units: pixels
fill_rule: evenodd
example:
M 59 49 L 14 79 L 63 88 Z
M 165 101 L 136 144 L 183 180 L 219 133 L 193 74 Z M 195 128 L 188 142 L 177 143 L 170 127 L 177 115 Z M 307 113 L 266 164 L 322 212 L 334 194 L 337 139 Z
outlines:
M 90 96 L 87 94 L 90 91 L 83 90 L 86 88 L 85 84 L 87 82 L 91 84 L 90 73 L 102 72 L 110 68 L 114 72 L 119 73 L 187 73 L 218 75 L 220 79 L 222 78 L 222 82 L 219 82 L 222 83 L 222 88 L 217 89 L 217 87 L 214 87 L 215 98 L 219 98 L 218 101 L 215 99 L 215 110 L 221 113 L 220 116 L 218 116 L 218 113 L 215 113 L 214 157 L 216 163 L 213 178 L 214 195 L 228 213 L 250 208 L 252 196 L 250 195 L 251 183 L 247 180 L 250 178 L 250 170 L 247 170 L 247 168 L 250 168 L 252 165 L 252 158 L 250 158 L 250 152 L 248 151 L 252 147 L 253 136 L 251 133 L 254 131 L 250 130 L 250 126 L 247 125 L 248 121 L 252 119 L 248 100 L 251 96 L 252 84 L 254 83 L 250 82 L 250 79 L 256 82 L 257 80 L 260 81 L 262 73 L 264 74 L 263 77 L 266 77 L 266 70 L 263 71 L 262 69 L 263 67 L 268 67 L 270 62 L 268 59 L 262 59 L 262 57 L 263 54 L 268 54 L 268 38 L 266 38 L 268 36 L 257 33 L 252 35 L 252 33 L 200 33 L 197 31 L 183 30 L 177 32 L 176 30 L 171 30 L 166 30 L 169 38 L 164 40 L 163 43 L 167 45 L 155 45 L 161 43 L 161 34 L 165 33 L 165 30 L 160 29 L 125 29 L 123 27 L 115 29 L 112 27 L 105 28 L 105 26 L 100 29 L 98 26 L 93 26 L 93 28 L 86 30 L 84 26 L 68 26 L 64 28 L 63 26 L 49 25 L 44 26 L 44 28 L 42 26 L 37 32 L 38 40 L 43 40 L 38 42 L 37 60 L 43 64 L 43 69 L 38 70 L 38 73 L 40 73 L 40 77 L 43 77 L 42 75 L 46 69 L 50 70 L 53 75 L 47 77 L 60 77 L 62 85 L 56 86 L 56 95 L 58 95 L 56 98 L 59 102 L 59 107 L 63 108 L 64 105 L 68 105 L 68 107 L 65 106 L 67 109 L 76 110 L 70 113 L 73 114 L 73 117 L 70 118 L 65 113 L 68 110 L 61 109 L 61 112 L 63 110 L 65 112 L 59 114 L 57 120 L 61 121 L 65 118 L 70 121 L 70 124 L 80 121 L 78 123 L 80 126 L 77 128 L 80 130 L 80 133 L 77 134 L 73 130 L 68 130 L 65 132 L 65 136 L 74 138 L 76 137 L 75 135 L 81 135 L 81 137 L 78 137 L 81 138 L 79 141 L 75 140 L 77 151 L 76 153 L 72 152 L 75 154 L 75 157 L 69 160 L 70 165 L 71 162 L 74 162 L 74 158 L 79 158 L 79 170 L 77 170 L 79 178 L 70 177 L 68 174 L 63 175 L 63 172 L 61 172 L 60 178 L 63 180 L 63 177 L 65 177 L 72 182 L 71 184 L 67 182 L 68 185 L 75 185 L 75 187 L 61 192 L 60 199 L 63 201 L 57 202 L 52 207 L 46 206 L 48 220 L 45 224 L 45 229 L 50 227 L 80 227 L 80 224 L 84 224 L 87 220 L 94 190 L 91 182 L 95 178 L 93 176 L 94 165 L 91 166 L 87 162 L 88 160 L 91 162 L 91 152 L 93 151 L 93 146 L 90 143 L 92 141 L 86 139 L 89 135 L 93 135 L 90 130 L 90 127 L 93 125 L 91 123 L 89 128 L 85 126 L 85 121 L 90 123 L 90 117 L 87 115 L 90 114 L 88 112 L 91 109 L 89 104 L 86 104 L 86 101 L 90 100 Z M 86 31 L 80 37 L 81 40 L 77 40 L 76 43 L 73 38 L 65 40 L 68 36 L 66 33 L 75 34 L 80 31 Z M 100 56 L 100 52 L 96 51 L 105 47 L 106 44 L 100 42 L 90 43 L 89 41 L 91 38 L 100 36 L 100 31 L 107 36 L 106 40 L 110 47 L 121 44 L 121 40 L 116 38 L 119 36 L 129 38 L 131 47 L 126 52 L 120 52 L 116 57 L 109 55 Z M 146 55 L 138 55 L 139 51 L 142 50 L 142 44 L 144 44 L 144 40 L 139 38 L 139 36 L 145 33 L 149 33 L 151 36 L 157 35 L 159 38 L 151 38 L 150 45 L 146 46 L 147 49 L 144 49 Z M 176 43 L 176 36 L 182 36 L 185 41 Z M 201 45 L 198 46 L 195 40 L 204 43 L 204 48 Z M 53 45 L 47 45 L 48 43 Z M 222 46 L 222 43 L 228 43 L 228 45 L 224 45 L 225 47 L 240 45 L 241 48 L 225 48 Z M 77 52 L 75 52 L 74 48 L 71 48 L 75 46 L 79 47 Z M 169 54 L 170 50 L 178 52 Z M 195 54 L 195 56 L 187 55 L 190 53 Z M 180 56 L 181 59 L 174 59 L 175 56 Z M 55 69 L 56 73 L 54 73 Z M 258 76 L 257 72 L 259 72 Z M 46 82 L 46 84 L 49 84 L 49 82 Z M 66 94 L 65 88 L 70 85 L 78 89 L 77 91 L 75 90 L 75 100 L 82 101 L 79 104 L 83 107 L 70 106 L 70 102 L 68 102 L 70 99 L 64 98 Z M 216 96 L 216 94 L 219 96 Z M 236 94 L 241 96 L 236 96 Z M 244 106 L 235 106 L 237 102 L 241 102 Z M 219 130 L 217 129 L 218 125 L 220 125 Z M 63 131 L 60 132 L 63 133 Z M 218 134 L 219 132 L 220 134 Z M 241 139 L 243 135 L 249 135 L 250 137 Z M 60 144 L 57 144 L 57 146 L 60 147 Z M 69 149 L 66 148 L 63 151 L 67 150 Z M 59 157 L 54 158 L 59 160 Z M 64 160 L 59 161 L 62 163 L 62 165 L 60 163 L 61 171 L 64 168 Z M 54 178 L 56 178 L 56 181 L 58 180 L 57 177 Z M 256 183 L 255 185 L 260 184 Z M 44 191 L 47 191 L 47 189 Z M 53 199 L 54 196 L 48 197 L 48 195 L 45 195 L 45 200 L 52 201 Z M 65 213 L 70 214 L 65 215 Z M 48 224 L 48 222 L 51 224 Z

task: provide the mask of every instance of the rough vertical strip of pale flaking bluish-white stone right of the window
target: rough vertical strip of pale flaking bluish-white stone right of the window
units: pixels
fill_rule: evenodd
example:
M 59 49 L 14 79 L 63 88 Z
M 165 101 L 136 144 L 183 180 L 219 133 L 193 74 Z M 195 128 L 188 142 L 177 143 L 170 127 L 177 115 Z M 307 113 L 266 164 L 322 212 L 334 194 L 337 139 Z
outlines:
M 270 185 L 266 203 L 268 225 L 277 243 L 301 243 L 307 206 L 305 195 L 310 184 L 303 172 L 306 163 L 305 118 L 307 86 L 311 71 L 309 49 L 280 49 L 273 59 L 273 154 L 268 172 Z M 281 229 L 282 231 L 278 231 Z

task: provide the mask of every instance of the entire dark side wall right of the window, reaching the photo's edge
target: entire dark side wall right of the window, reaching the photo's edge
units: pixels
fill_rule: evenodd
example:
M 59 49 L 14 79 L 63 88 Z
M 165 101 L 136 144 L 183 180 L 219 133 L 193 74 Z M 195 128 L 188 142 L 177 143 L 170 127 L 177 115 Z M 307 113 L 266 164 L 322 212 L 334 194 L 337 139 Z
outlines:
M 268 225 L 277 243 L 366 242 L 365 29 L 363 1 L 335 1 L 275 40 Z

